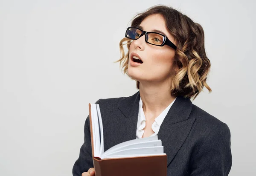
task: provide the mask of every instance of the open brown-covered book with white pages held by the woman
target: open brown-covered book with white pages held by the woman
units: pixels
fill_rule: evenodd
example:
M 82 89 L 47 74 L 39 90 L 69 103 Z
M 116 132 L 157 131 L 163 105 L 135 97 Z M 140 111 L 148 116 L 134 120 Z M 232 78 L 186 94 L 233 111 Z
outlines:
M 105 151 L 99 104 L 89 104 L 89 111 L 96 176 L 166 176 L 167 156 L 157 136 L 125 141 Z

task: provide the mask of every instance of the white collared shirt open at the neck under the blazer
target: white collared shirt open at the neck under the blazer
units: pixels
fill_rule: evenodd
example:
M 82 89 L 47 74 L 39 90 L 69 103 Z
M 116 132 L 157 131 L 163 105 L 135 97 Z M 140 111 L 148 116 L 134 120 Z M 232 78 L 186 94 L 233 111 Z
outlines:
M 174 101 L 175 100 L 176 100 L 176 98 L 174 99 Z M 157 118 L 155 118 L 154 123 L 151 126 L 152 130 L 154 131 L 154 134 L 152 134 L 151 136 L 156 136 L 158 134 L 160 126 L 163 123 L 163 120 L 166 117 L 168 111 L 172 107 L 172 104 L 174 103 L 174 101 L 172 101 L 172 103 L 168 107 L 166 107 L 166 109 L 163 110 L 163 112 L 160 113 L 160 115 L 158 115 Z M 140 98 L 136 138 L 142 138 L 142 136 L 144 134 L 143 129 L 146 126 L 146 118 L 145 118 L 145 114 L 144 114 L 142 105 L 143 105 L 143 102 Z

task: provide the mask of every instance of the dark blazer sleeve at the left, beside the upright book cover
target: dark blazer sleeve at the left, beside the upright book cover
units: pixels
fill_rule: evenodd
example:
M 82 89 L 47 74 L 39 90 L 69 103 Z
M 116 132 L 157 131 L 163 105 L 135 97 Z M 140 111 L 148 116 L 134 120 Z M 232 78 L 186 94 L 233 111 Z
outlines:
M 99 101 L 100 99 L 96 101 L 96 104 L 99 104 Z M 90 118 L 88 115 L 84 123 L 84 144 L 82 144 L 79 158 L 73 166 L 73 176 L 81 176 L 82 173 L 87 172 L 90 167 L 93 167 L 93 158 L 90 136 Z

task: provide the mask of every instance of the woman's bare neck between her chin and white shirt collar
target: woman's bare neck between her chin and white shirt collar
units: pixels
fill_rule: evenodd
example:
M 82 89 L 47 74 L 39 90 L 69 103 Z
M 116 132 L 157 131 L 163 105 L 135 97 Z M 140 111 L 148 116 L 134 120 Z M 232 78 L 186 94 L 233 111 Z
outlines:
M 171 95 L 168 82 L 162 84 L 140 82 L 140 97 L 143 102 L 144 112 L 153 114 L 159 114 L 165 110 L 176 98 Z

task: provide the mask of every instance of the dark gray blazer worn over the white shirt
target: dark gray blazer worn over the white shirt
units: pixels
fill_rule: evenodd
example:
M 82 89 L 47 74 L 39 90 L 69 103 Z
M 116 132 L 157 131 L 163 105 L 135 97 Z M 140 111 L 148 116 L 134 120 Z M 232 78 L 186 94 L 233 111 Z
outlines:
M 99 99 L 104 147 L 136 138 L 140 92 L 130 97 Z M 158 138 L 167 154 L 168 176 L 227 176 L 232 164 L 227 124 L 177 97 L 160 126 Z M 84 144 L 73 166 L 73 176 L 93 167 L 90 121 L 84 125 Z M 134 173 L 134 176 L 136 174 Z

